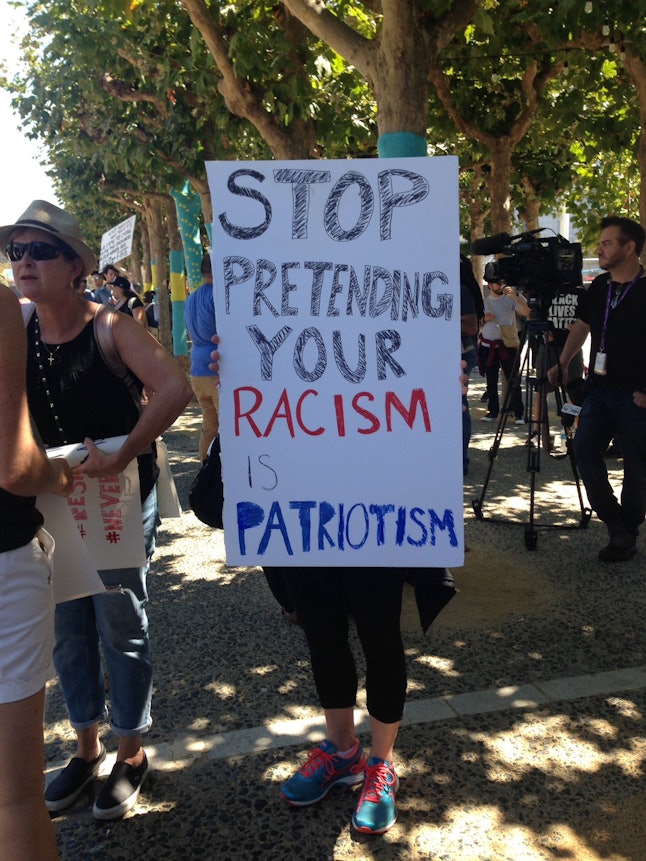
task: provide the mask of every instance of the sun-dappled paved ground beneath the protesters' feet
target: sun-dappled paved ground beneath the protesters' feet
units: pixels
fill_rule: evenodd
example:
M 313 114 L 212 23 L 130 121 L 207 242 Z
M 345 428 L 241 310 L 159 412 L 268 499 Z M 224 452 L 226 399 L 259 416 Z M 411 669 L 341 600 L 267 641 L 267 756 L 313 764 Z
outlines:
M 547 525 L 576 526 L 578 511 L 568 461 L 546 456 L 528 550 L 526 429 L 515 426 L 483 506 L 504 522 L 476 519 L 495 426 L 479 422 L 477 380 L 472 389 L 460 592 L 427 636 L 405 596 L 397 825 L 381 838 L 354 833 L 356 788 L 308 809 L 280 801 L 281 782 L 323 736 L 303 635 L 259 571 L 227 568 L 222 533 L 185 510 L 164 523 L 150 576 L 151 777 L 122 821 L 93 819 L 98 783 L 57 817 L 63 861 L 646 861 L 644 552 L 604 566 L 601 524 Z M 197 428 L 191 407 L 166 435 L 185 509 Z M 103 737 L 107 773 L 116 745 L 107 727 Z M 53 682 L 50 774 L 72 738 Z

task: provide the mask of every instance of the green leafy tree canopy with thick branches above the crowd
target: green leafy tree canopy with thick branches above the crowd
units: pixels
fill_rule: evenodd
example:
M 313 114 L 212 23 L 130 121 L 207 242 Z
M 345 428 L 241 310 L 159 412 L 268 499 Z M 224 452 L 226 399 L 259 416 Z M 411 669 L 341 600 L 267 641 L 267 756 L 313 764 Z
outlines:
M 646 222 L 646 0 L 21 5 L 4 86 L 97 234 L 186 181 L 208 221 L 206 160 L 374 156 L 404 132 L 458 155 L 467 237 L 566 207 L 586 242 L 602 213 Z

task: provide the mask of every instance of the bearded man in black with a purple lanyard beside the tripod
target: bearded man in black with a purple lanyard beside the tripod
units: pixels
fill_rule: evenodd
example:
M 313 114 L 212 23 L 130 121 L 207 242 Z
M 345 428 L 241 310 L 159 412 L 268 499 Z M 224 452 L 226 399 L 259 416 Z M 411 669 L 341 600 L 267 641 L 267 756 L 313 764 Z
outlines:
M 602 562 L 634 554 L 646 513 L 646 277 L 639 256 L 646 234 L 636 221 L 601 221 L 599 275 L 579 299 L 578 319 L 550 368 L 553 385 L 566 383 L 568 366 L 591 335 L 590 367 L 574 456 L 591 507 L 608 528 Z M 624 458 L 621 501 L 608 481 L 603 455 L 616 438 Z

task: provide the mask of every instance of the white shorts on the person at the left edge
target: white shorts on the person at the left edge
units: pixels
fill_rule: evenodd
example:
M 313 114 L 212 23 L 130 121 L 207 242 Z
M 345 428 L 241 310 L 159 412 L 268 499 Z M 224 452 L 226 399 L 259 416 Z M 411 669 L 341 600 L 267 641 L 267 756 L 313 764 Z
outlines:
M 44 529 L 0 553 L 0 703 L 32 696 L 54 675 L 53 553 Z

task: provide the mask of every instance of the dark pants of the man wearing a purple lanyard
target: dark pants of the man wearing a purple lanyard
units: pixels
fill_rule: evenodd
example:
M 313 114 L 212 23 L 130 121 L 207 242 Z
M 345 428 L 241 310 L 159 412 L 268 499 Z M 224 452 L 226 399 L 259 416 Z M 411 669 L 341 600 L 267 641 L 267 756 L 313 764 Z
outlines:
M 624 458 L 621 502 L 608 481 L 603 458 L 612 439 Z M 646 409 L 625 390 L 587 392 L 574 437 L 574 456 L 590 506 L 604 523 L 622 520 L 633 532 L 646 514 Z

